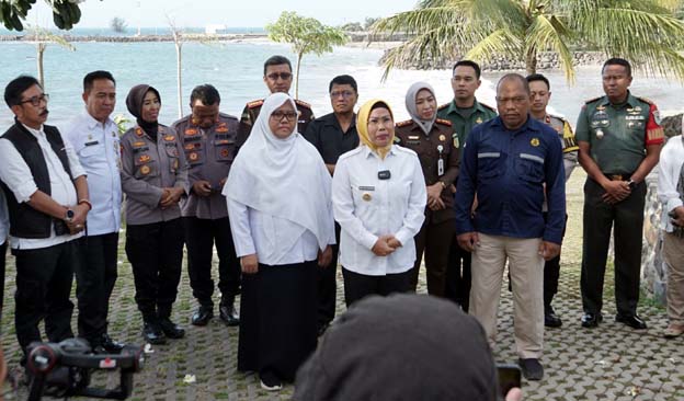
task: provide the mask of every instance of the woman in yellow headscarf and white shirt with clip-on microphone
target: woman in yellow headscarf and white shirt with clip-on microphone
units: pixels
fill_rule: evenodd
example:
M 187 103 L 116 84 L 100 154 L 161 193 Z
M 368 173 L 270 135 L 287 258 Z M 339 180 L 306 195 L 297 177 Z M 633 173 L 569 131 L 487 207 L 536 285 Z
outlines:
M 366 102 L 356 129 L 361 146 L 340 157 L 332 179 L 347 307 L 367 295 L 410 290 L 413 237 L 428 199 L 418 156 L 394 145 L 395 122 L 386 102 Z

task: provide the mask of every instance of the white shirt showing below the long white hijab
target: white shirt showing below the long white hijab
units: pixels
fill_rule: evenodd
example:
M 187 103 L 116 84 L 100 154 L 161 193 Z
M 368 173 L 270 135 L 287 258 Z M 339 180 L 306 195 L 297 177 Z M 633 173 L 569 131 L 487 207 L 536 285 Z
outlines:
M 238 257 L 256 253 L 259 263 L 270 266 L 309 262 L 318 257 L 318 240 L 303 226 L 252 209 L 231 198 L 227 198 L 227 204 Z M 333 221 L 332 214 L 330 221 Z M 330 231 L 328 243 L 333 244 L 332 224 Z M 282 240 L 284 238 L 288 240 Z

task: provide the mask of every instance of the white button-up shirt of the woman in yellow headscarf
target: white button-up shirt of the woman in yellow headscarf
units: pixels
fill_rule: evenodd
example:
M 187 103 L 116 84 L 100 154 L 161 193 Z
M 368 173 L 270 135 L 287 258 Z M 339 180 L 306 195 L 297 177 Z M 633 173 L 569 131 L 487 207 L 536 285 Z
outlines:
M 380 171 L 389 171 L 389 180 L 378 179 Z M 342 154 L 332 177 L 334 218 L 342 227 L 342 266 L 372 276 L 413 267 L 413 237 L 425 219 L 426 202 L 425 180 L 414 151 L 392 146 L 381 160 L 362 146 Z M 385 234 L 394 234 L 402 247 L 377 256 L 371 250 Z

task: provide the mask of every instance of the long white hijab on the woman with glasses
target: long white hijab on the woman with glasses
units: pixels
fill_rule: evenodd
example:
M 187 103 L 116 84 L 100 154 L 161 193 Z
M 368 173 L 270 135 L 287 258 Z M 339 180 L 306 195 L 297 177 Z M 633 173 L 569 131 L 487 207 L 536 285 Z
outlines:
M 285 139 L 271 131 L 271 114 L 286 102 L 297 111 L 295 101 L 285 93 L 266 98 L 249 138 L 232 162 L 223 194 L 301 228 L 298 236 L 280 238 L 280 245 L 289 248 L 309 230 L 323 250 L 331 234 L 332 180 L 316 148 L 296 128 Z

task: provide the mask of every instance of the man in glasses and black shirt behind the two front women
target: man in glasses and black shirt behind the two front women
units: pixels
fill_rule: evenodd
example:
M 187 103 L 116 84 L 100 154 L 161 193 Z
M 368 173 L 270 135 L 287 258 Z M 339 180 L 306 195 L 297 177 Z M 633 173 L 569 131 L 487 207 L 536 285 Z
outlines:
M 304 137 L 316 147 L 332 175 L 340 156 L 358 147 L 356 114 L 354 113 L 358 87 L 353 77 L 338 76 L 330 81 L 328 91 L 333 112 L 311 122 Z M 335 222 L 335 244 L 331 245 L 332 261 L 327 267 L 318 270 L 319 335 L 326 331 L 335 313 L 340 230 L 340 225 Z

